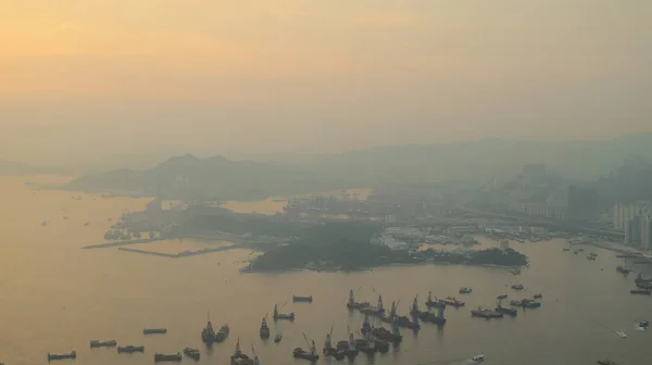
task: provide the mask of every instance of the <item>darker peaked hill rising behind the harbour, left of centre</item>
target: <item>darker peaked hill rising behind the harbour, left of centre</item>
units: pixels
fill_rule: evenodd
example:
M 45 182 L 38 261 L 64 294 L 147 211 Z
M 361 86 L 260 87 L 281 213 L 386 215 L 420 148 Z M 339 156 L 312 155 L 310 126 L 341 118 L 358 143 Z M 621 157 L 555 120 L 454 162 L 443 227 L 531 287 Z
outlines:
M 114 169 L 88 174 L 65 186 L 82 191 L 136 192 L 166 199 L 250 200 L 340 188 L 335 179 L 293 166 L 223 156 L 200 159 L 187 154 L 148 169 Z

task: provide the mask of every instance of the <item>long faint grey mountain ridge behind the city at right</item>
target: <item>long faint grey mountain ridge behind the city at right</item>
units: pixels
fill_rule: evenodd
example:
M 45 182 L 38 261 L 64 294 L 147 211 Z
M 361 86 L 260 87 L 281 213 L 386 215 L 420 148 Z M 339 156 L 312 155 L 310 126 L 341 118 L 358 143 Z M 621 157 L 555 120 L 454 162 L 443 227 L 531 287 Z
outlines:
M 359 186 L 515 175 L 528 163 L 546 164 L 564 178 L 595 179 L 637 155 L 652 156 L 652 133 L 595 141 L 482 139 L 379 147 L 318 156 L 305 167 Z

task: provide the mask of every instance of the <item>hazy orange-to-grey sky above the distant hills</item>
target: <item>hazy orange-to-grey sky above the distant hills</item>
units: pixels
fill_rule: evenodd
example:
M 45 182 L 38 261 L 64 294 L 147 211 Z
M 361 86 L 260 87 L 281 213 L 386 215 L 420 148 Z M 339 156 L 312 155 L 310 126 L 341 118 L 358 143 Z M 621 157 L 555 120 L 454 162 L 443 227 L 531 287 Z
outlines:
M 0 0 L 0 160 L 652 130 L 650 0 Z

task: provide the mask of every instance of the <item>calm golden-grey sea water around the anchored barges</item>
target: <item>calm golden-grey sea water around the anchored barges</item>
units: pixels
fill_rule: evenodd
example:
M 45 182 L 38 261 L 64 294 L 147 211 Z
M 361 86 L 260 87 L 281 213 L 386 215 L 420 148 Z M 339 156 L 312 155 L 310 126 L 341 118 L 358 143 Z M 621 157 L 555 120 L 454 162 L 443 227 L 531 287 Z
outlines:
M 375 357 L 360 355 L 355 364 L 467 364 L 467 358 L 479 353 L 487 356 L 488 365 L 588 365 L 601 358 L 647 364 L 652 357 L 652 330 L 635 330 L 635 323 L 652 319 L 652 299 L 629 294 L 635 275 L 616 274 L 622 260 L 609 251 L 587 247 L 587 252 L 574 255 L 562 252 L 562 240 L 511 242 L 531 261 L 521 276 L 499 268 L 453 265 L 354 274 L 240 275 L 238 268 L 249 251 L 171 260 L 116 249 L 80 250 L 102 241 L 109 218 L 124 210 L 141 210 L 146 200 L 83 194 L 77 201 L 71 192 L 33 192 L 25 181 L 36 180 L 43 181 L 0 179 L 0 362 L 7 365 L 45 364 L 48 352 L 72 349 L 77 351 L 76 364 L 151 364 L 154 352 L 177 352 L 185 347 L 201 349 L 199 364 L 228 364 L 237 337 L 247 353 L 251 354 L 251 344 L 255 347 L 262 364 L 304 364 L 291 357 L 293 348 L 305 347 L 303 332 L 321 349 L 331 326 L 336 340 L 346 339 L 348 326 L 360 328 L 362 316 L 344 307 L 351 288 L 361 288 L 359 299 L 375 301 L 375 289 L 386 305 L 400 300 L 403 314 L 416 293 L 422 306 L 428 291 L 440 298 L 463 297 L 466 302 L 466 307 L 447 311 L 443 328 L 423 324 L 417 335 L 403 330 L 399 349 Z M 40 225 L 43 218 L 49 218 L 47 227 Z M 176 252 L 210 244 L 163 242 L 159 250 Z M 598 253 L 598 260 L 586 260 L 588 252 Z M 650 274 L 650 267 L 636 269 Z M 526 291 L 518 295 L 509 289 L 512 284 L 525 285 Z M 463 286 L 472 287 L 473 293 L 457 294 Z M 492 307 L 503 292 L 510 298 L 541 292 L 542 306 L 522 311 L 516 318 L 471 317 L 471 309 Z M 315 300 L 293 304 L 292 294 L 312 294 Z M 283 312 L 296 312 L 297 320 L 271 324 L 273 333 L 284 335 L 279 344 L 261 341 L 261 318 L 275 303 L 288 300 Z M 200 340 L 206 311 L 215 326 L 228 323 L 231 328 L 228 340 L 210 350 Z M 145 337 L 145 327 L 166 327 L 168 332 Z M 614 329 L 625 330 L 629 338 L 618 338 Z M 146 353 L 90 350 L 91 339 L 142 344 Z M 195 362 L 185 358 L 183 363 Z

